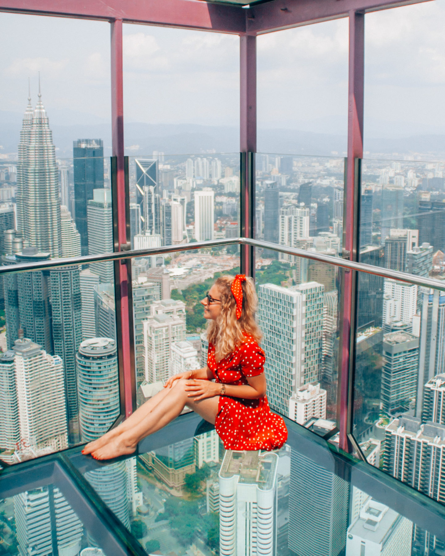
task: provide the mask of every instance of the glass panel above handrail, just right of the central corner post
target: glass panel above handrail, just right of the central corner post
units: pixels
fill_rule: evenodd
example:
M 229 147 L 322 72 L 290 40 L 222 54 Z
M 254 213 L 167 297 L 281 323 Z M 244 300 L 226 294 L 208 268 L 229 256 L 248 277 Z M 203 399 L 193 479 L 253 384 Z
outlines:
M 339 256 L 343 189 L 343 158 L 257 154 L 256 239 Z

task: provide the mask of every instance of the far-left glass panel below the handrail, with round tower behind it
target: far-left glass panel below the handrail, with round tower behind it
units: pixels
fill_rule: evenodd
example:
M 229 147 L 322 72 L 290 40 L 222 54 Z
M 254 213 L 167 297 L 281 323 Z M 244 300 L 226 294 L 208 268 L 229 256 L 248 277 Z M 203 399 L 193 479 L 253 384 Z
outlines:
M 3 259 L 14 265 L 48 254 Z M 2 276 L 0 459 L 7 463 L 96 438 L 120 414 L 113 264 L 94 265 Z

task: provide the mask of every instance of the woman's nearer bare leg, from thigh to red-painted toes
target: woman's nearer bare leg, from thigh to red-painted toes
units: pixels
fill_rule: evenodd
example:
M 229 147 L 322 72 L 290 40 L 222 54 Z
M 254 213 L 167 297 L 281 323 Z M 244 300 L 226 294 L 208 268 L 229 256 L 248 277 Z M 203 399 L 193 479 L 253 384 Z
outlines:
M 136 449 L 137 443 L 148 436 L 162 429 L 181 413 L 185 405 L 188 405 L 197 414 L 201 415 L 209 423 L 215 424 L 218 413 L 219 396 L 206 398 L 205 400 L 194 401 L 187 396 L 185 385 L 188 381 L 181 379 L 176 381 L 174 388 L 171 388 L 167 395 L 153 408 L 143 420 L 133 428 L 120 434 L 108 441 L 107 444 L 92 452 L 93 458 L 111 459 L 120 455 L 132 454 Z

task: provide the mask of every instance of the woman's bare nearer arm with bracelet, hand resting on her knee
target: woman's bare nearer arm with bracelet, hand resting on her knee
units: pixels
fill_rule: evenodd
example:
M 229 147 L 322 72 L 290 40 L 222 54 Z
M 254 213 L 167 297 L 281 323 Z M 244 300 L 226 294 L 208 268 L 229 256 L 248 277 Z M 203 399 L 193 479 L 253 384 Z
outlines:
M 249 384 L 234 386 L 224 384 L 225 396 L 231 398 L 245 398 L 248 400 L 258 400 L 266 395 L 266 377 L 264 373 L 257 376 L 246 377 Z M 221 383 L 212 383 L 209 380 L 195 379 L 186 384 L 185 390 L 189 392 L 189 397 L 193 397 L 195 401 L 220 396 L 222 390 Z

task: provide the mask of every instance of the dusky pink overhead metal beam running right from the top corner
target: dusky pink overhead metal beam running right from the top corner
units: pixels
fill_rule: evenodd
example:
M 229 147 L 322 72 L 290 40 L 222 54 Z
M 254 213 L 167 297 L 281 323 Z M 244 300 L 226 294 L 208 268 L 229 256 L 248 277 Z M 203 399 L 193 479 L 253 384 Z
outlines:
M 351 11 L 373 12 L 379 9 L 407 6 L 429 2 L 430 0 L 402 0 L 400 2 L 385 2 L 384 0 L 274 0 L 252 6 L 247 11 L 246 32 L 249 34 L 269 33 L 348 17 Z

